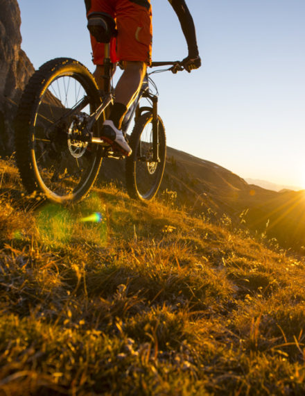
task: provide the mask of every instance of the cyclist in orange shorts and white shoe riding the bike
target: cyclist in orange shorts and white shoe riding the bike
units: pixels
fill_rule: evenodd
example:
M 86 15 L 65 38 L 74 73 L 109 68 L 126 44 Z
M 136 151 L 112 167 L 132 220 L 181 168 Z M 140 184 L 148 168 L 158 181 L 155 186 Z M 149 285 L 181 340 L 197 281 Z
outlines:
M 191 72 L 198 69 L 201 60 L 198 52 L 193 18 L 184 0 L 168 0 L 180 21 L 189 54 L 182 64 Z M 102 135 L 116 142 L 125 155 L 131 154 L 121 124 L 133 99 L 137 96 L 151 62 L 152 13 L 150 0 L 85 0 L 87 16 L 90 13 L 107 13 L 116 19 L 118 35 L 110 42 L 110 58 L 115 65 L 121 61 L 124 72 L 114 90 L 114 104 L 109 119 L 103 123 Z M 103 90 L 103 43 L 91 35 L 93 62 L 96 65 L 94 77 L 98 88 Z M 113 67 L 113 72 L 115 67 Z

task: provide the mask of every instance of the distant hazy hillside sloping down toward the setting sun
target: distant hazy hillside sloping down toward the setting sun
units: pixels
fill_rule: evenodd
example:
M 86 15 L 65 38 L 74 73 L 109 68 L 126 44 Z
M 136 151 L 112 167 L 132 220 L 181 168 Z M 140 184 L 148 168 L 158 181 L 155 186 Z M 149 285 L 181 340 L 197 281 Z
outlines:
M 106 160 L 101 179 L 124 185 L 123 165 L 123 161 Z M 216 163 L 171 147 L 167 147 L 162 190 L 175 192 L 175 204 L 197 217 L 219 222 L 225 215 L 236 226 L 244 213 L 243 220 L 253 232 L 265 233 L 282 247 L 304 254 L 305 191 L 276 192 L 250 185 Z

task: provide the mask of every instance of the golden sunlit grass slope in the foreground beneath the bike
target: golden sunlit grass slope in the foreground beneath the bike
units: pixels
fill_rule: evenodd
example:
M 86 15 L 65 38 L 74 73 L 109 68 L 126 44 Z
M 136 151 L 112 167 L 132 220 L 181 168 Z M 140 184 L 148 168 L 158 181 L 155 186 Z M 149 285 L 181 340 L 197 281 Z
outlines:
M 0 165 L 0 395 L 304 395 L 304 261 L 170 194 L 41 206 Z

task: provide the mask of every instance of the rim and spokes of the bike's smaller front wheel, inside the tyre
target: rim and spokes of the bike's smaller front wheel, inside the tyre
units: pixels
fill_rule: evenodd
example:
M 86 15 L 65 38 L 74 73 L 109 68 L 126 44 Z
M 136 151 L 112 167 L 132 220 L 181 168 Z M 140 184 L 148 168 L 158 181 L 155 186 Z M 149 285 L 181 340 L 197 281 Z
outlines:
M 150 199 L 159 187 L 164 169 L 164 145 L 160 138 L 159 123 L 159 162 L 153 160 L 153 124 L 150 119 L 143 128 L 135 153 L 135 184 L 142 199 Z

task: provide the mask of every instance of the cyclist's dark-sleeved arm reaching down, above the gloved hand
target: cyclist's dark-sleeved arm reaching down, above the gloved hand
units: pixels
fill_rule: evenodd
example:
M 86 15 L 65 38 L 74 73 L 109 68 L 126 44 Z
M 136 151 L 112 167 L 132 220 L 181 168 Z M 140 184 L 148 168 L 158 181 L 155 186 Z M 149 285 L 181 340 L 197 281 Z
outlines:
M 186 39 L 187 47 L 189 49 L 189 58 L 198 58 L 199 51 L 196 40 L 195 26 L 193 17 L 189 12 L 184 0 L 168 0 L 175 10 L 177 17 L 180 21 L 182 32 Z

